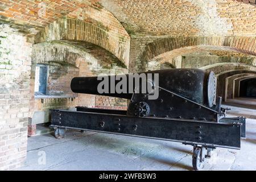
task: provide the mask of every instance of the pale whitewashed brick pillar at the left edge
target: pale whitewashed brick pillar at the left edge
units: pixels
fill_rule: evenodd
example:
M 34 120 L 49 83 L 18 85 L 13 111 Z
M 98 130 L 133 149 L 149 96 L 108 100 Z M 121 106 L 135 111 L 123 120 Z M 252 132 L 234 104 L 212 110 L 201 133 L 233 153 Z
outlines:
M 32 44 L 0 28 L 0 170 L 19 167 L 27 153 Z

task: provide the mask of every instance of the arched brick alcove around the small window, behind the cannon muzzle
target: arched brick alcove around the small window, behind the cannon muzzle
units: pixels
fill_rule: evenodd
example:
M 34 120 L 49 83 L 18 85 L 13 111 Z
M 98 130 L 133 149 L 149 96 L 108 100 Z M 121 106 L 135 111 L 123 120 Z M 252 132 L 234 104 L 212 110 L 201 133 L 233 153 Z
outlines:
M 72 109 L 76 106 L 126 109 L 126 100 L 73 93 L 70 89 L 73 77 L 98 76 L 101 73 L 127 73 L 117 57 L 106 49 L 88 42 L 44 42 L 34 44 L 30 78 L 30 110 L 28 135 L 35 135 L 36 119 L 47 122 L 49 109 Z M 35 96 L 36 64 L 47 65 L 47 93 Z M 115 103 L 115 105 L 113 105 Z M 120 106 L 122 105 L 122 107 Z M 46 117 L 38 117 L 40 114 Z M 34 121 L 35 118 L 35 121 Z

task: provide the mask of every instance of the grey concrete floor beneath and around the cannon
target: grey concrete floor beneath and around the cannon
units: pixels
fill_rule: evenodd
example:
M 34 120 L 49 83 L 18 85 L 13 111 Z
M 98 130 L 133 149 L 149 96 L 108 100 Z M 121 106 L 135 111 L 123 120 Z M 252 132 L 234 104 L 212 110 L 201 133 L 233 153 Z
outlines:
M 256 111 L 231 107 L 230 116 L 248 117 L 247 138 L 241 150 L 217 148 L 202 170 L 256 170 Z M 27 160 L 19 170 L 192 170 L 192 146 L 68 131 L 60 140 L 51 134 L 28 138 Z

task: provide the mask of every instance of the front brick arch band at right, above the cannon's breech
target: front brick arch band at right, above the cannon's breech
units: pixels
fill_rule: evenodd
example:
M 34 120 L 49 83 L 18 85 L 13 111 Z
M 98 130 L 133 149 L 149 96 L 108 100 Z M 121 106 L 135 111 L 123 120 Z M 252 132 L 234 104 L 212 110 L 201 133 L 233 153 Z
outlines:
M 224 37 L 178 37 L 156 39 L 148 43 L 141 54 L 141 64 L 146 68 L 148 61 L 158 59 L 165 53 L 183 53 L 184 49 L 200 46 L 217 47 L 229 51 L 237 51 L 249 55 L 256 55 L 256 38 L 245 36 L 224 36 Z

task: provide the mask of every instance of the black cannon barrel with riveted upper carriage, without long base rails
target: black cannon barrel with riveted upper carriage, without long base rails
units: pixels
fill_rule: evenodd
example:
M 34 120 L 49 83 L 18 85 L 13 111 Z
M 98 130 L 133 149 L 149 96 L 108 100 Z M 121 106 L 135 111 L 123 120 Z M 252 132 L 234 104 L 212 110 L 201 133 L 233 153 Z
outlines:
M 127 115 L 139 117 L 183 118 L 217 122 L 221 115 L 225 114 L 221 113 L 220 101 L 217 101 L 217 105 L 214 104 L 216 81 L 213 72 L 207 73 L 201 69 L 163 69 L 143 73 L 146 76 L 147 84 L 157 85 L 156 88 L 159 88 L 158 98 L 148 100 L 148 93 L 134 93 L 136 86 L 139 88 L 143 86 L 142 81 L 135 84 L 138 77 L 136 78 L 133 74 L 119 76 L 125 77 L 125 86 L 131 88 L 131 92 L 117 93 L 115 89 L 111 90 L 119 82 L 115 76 L 103 76 L 102 79 L 76 77 L 71 82 L 71 89 L 75 93 L 127 98 L 131 100 Z M 151 78 L 148 78 L 148 73 L 152 74 Z M 157 83 L 156 74 L 158 74 Z M 142 73 L 138 73 L 138 75 L 140 76 Z M 108 89 L 105 93 L 98 92 L 98 85 L 102 80 L 108 81 Z M 133 84 L 130 84 L 129 80 Z

